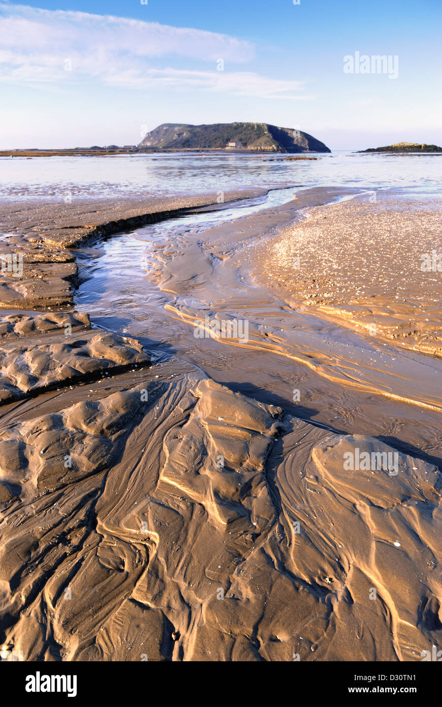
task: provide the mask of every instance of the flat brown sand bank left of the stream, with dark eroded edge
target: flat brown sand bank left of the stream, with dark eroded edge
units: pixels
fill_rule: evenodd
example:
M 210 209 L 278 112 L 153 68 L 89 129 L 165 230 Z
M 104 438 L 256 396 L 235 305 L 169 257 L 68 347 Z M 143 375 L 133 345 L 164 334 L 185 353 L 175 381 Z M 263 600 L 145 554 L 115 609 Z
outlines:
M 266 189 L 237 189 L 193 197 L 1 201 L 0 307 L 50 309 L 71 305 L 78 269 L 70 248 L 186 209 L 258 197 Z

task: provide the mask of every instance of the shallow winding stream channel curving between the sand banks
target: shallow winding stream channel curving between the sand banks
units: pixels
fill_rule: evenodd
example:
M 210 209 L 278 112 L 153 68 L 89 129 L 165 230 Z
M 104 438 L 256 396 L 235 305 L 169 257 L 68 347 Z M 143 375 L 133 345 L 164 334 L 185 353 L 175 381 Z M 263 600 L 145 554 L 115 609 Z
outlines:
M 80 251 L 76 309 L 97 326 L 140 339 L 158 361 L 188 361 L 302 419 L 376 436 L 440 465 L 440 361 L 293 310 L 251 280 L 247 263 L 263 231 L 256 236 L 250 219 L 267 218 L 263 209 L 287 204 L 298 191 L 201 209 Z M 246 320 L 249 340 L 196 338 L 195 322 L 206 316 Z M 394 373 L 399 357 L 407 380 Z

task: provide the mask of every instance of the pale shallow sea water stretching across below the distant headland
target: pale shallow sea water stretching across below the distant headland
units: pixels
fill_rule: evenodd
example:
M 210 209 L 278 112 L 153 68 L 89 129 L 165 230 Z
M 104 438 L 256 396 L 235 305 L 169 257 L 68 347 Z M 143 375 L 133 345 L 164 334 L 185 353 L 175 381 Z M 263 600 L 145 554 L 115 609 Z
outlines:
M 0 199 L 160 197 L 239 187 L 407 187 L 435 194 L 442 155 L 337 151 L 287 155 L 156 153 L 104 157 L 2 157 Z

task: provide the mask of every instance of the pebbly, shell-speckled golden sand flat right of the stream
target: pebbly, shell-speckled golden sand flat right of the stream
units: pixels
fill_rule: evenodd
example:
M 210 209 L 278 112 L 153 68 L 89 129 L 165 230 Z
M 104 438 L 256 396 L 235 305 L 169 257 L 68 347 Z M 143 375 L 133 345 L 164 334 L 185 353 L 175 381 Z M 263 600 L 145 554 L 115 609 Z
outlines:
M 311 209 L 254 252 L 256 277 L 320 317 L 441 356 L 442 203 L 374 194 Z

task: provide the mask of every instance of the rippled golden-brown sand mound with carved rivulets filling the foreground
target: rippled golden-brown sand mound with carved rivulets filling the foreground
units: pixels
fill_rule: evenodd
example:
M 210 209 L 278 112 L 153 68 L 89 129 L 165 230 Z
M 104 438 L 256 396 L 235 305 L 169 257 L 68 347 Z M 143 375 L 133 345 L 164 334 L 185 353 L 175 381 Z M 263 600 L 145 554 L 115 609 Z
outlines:
M 342 472 L 374 445 L 196 373 L 14 424 L 5 643 L 25 660 L 419 660 L 441 638 L 438 472 L 405 455 L 396 477 Z

